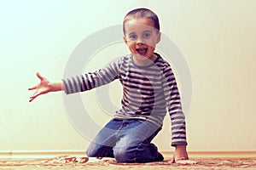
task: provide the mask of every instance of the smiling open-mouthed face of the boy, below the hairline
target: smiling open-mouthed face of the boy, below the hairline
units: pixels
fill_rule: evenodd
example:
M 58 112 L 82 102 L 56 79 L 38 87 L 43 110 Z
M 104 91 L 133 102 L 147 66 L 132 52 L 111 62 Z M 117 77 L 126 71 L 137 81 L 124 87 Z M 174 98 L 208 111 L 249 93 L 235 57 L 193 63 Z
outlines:
M 160 42 L 160 32 L 150 19 L 127 20 L 124 40 L 138 61 L 154 60 L 154 48 Z

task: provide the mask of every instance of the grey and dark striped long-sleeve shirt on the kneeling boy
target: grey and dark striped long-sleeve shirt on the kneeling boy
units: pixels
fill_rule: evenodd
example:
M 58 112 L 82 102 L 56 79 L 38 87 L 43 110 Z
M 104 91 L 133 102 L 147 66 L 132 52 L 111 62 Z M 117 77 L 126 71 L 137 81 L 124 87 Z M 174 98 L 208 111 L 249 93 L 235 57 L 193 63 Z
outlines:
M 63 79 L 65 93 L 83 92 L 119 79 L 123 86 L 122 107 L 114 118 L 147 119 L 162 126 L 167 110 L 172 122 L 172 145 L 187 144 L 176 79 L 171 66 L 156 55 L 151 65 L 136 65 L 132 54 L 128 54 L 98 71 Z

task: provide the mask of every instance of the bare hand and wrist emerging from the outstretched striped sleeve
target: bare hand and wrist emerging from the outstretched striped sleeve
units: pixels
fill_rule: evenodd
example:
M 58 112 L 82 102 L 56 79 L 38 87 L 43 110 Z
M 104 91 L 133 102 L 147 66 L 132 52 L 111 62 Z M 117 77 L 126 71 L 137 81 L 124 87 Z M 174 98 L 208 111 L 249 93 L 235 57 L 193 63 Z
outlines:
M 36 92 L 30 97 L 29 102 L 32 102 L 33 99 L 36 99 L 41 94 L 48 94 L 49 92 L 57 92 L 63 90 L 62 82 L 49 82 L 39 73 L 37 73 L 37 77 L 40 79 L 39 84 L 35 87 L 28 88 L 28 90 L 36 90 Z

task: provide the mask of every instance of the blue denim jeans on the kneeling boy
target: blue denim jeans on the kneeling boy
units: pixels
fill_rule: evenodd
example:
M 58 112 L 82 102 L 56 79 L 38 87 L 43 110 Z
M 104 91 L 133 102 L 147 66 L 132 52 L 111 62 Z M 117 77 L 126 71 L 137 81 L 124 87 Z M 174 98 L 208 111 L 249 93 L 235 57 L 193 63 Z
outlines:
M 150 143 L 160 129 L 148 121 L 113 119 L 96 135 L 86 154 L 114 157 L 118 162 L 163 161 L 157 147 Z

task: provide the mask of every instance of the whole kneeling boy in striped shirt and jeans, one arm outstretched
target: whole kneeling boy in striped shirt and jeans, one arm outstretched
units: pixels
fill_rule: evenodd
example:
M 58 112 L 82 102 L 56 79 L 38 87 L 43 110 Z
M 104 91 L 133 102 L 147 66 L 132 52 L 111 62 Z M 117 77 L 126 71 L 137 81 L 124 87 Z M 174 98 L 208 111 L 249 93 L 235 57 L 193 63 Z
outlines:
M 172 162 L 188 160 L 185 116 L 171 66 L 154 53 L 160 42 L 160 24 L 156 14 L 137 8 L 125 15 L 124 41 L 131 51 L 99 71 L 52 83 L 37 73 L 38 95 L 64 90 L 66 94 L 83 92 L 119 79 L 123 86 L 122 107 L 102 128 L 86 151 L 90 157 L 114 157 L 118 162 L 163 161 L 151 143 L 160 131 L 166 110 L 172 121 Z

